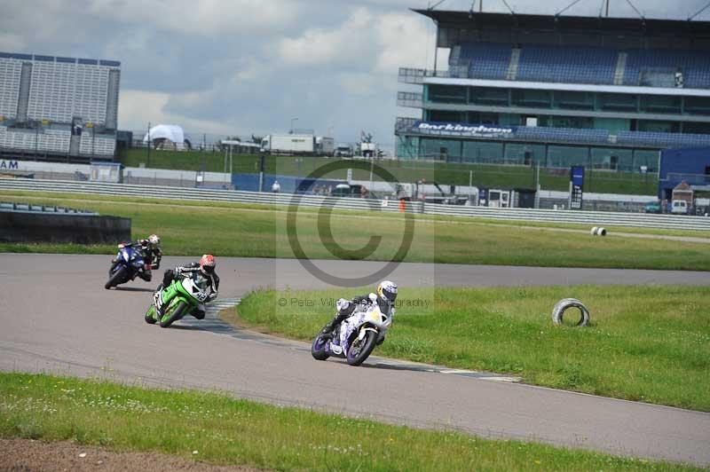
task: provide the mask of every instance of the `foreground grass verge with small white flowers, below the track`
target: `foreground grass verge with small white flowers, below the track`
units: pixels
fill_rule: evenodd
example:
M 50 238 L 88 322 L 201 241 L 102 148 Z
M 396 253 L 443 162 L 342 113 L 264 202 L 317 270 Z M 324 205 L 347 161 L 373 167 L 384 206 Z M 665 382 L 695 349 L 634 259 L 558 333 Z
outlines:
M 0 436 L 278 470 L 690 470 L 542 444 L 48 375 L 0 374 Z M 193 454 L 197 451 L 197 454 Z

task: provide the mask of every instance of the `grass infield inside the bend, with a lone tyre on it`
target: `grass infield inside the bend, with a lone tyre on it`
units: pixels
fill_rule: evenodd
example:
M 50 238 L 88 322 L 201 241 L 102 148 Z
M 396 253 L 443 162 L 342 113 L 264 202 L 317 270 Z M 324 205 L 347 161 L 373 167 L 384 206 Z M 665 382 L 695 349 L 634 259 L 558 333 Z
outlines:
M 335 313 L 327 301 L 358 292 L 260 290 L 242 300 L 239 319 L 311 341 Z M 588 306 L 591 326 L 552 325 L 552 308 L 566 297 Z M 429 305 L 398 309 L 375 354 L 710 412 L 710 287 L 404 288 L 399 300 Z

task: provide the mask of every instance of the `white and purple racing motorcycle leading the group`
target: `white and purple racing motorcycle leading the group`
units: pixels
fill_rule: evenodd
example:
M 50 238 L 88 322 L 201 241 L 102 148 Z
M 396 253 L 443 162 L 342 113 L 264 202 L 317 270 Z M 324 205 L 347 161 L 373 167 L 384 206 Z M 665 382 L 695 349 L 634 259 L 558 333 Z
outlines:
M 375 346 L 384 342 L 392 324 L 394 308 L 385 314 L 378 303 L 359 305 L 348 319 L 335 327 L 330 340 L 323 339 L 322 331 L 313 340 L 311 354 L 317 360 L 344 358 L 351 366 L 359 366 L 372 353 Z

